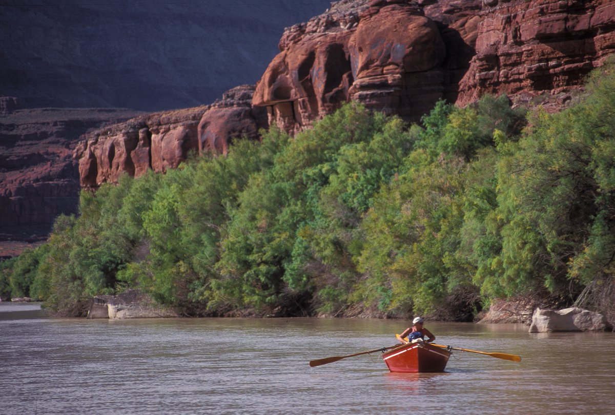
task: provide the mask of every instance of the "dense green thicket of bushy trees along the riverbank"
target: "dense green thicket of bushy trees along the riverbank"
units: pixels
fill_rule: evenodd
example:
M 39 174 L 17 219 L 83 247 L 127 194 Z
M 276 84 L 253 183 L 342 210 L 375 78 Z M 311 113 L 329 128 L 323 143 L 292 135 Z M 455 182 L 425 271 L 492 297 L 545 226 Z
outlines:
M 128 288 L 186 315 L 467 319 L 519 296 L 612 314 L 613 66 L 585 90 L 559 113 L 440 101 L 416 125 L 349 103 L 123 176 L 2 263 L 0 292 L 69 315 Z

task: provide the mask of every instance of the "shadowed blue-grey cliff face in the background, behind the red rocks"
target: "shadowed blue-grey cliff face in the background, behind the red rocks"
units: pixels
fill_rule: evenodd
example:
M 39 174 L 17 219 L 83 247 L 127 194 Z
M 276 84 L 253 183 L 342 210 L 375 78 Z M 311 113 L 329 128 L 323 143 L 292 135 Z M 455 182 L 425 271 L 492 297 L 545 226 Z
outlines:
M 253 84 L 285 26 L 328 0 L 3 2 L 0 96 L 27 108 L 133 108 L 212 103 Z M 8 3 L 8 4 L 6 4 Z

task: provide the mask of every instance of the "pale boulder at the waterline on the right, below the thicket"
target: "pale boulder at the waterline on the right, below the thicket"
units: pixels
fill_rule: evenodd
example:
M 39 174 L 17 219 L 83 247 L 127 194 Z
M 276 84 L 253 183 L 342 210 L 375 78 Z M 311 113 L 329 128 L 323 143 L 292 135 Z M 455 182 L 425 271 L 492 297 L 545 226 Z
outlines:
M 606 317 L 579 307 L 563 310 L 537 308 L 532 316 L 530 333 L 554 331 L 605 331 L 609 325 Z

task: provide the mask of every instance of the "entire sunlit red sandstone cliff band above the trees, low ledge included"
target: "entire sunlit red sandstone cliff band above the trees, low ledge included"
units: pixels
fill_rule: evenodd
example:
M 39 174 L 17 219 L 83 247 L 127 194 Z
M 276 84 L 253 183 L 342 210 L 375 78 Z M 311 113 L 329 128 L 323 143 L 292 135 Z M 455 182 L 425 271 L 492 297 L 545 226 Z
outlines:
M 272 122 L 296 132 L 351 100 L 407 121 L 484 93 L 561 106 L 613 53 L 614 29 L 614 0 L 342 0 L 287 28 L 255 89 L 88 135 L 74 153 L 81 186 L 225 152 Z

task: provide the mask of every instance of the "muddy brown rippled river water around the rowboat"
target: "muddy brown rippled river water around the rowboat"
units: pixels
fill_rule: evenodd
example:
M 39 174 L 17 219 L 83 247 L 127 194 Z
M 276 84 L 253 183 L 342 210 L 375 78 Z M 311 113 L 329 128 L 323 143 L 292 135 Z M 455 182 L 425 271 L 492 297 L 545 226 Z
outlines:
M 615 333 L 426 322 L 445 373 L 389 373 L 403 320 L 43 318 L 0 303 L 2 414 L 613 414 Z

